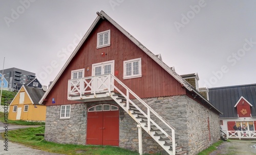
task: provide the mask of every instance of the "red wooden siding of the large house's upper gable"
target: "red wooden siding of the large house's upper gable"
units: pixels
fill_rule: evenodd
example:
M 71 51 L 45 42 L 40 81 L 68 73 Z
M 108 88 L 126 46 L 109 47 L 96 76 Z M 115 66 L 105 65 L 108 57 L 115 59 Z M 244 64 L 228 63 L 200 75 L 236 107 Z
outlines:
M 97 33 L 106 30 L 111 30 L 111 45 L 97 49 Z M 101 53 L 106 55 L 102 56 Z M 123 80 L 123 61 L 136 58 L 141 58 L 142 77 Z M 109 21 L 101 19 L 46 97 L 46 105 L 52 105 L 52 98 L 55 98 L 56 105 L 75 102 L 67 100 L 71 70 L 85 68 L 85 76 L 91 76 L 92 64 L 111 60 L 115 60 L 115 76 L 141 98 L 186 94 L 185 88 L 173 76 Z

